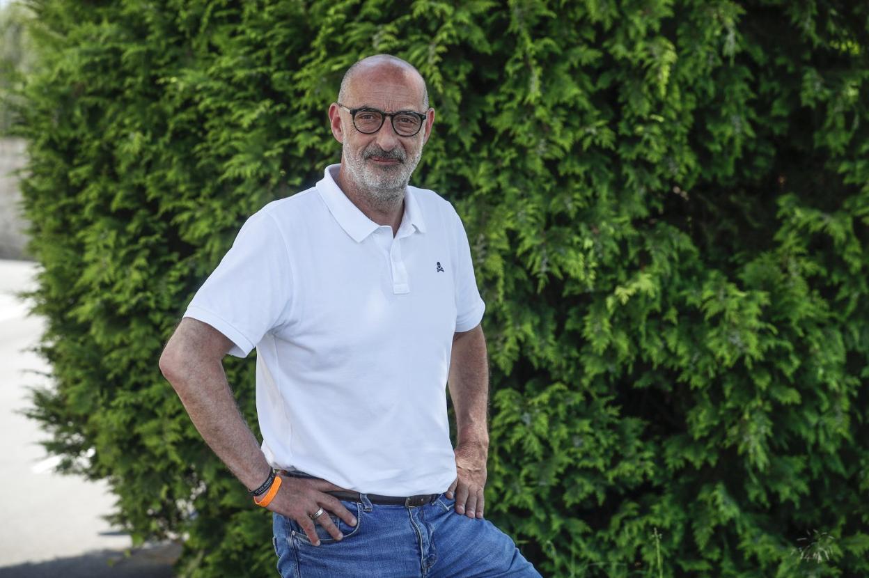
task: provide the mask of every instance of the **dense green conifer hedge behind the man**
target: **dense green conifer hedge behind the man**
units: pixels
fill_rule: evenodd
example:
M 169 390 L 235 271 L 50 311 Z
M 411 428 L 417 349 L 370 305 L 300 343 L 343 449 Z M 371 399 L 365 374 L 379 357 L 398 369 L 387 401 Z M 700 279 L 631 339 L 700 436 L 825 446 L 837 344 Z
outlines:
M 274 553 L 163 342 L 338 158 L 325 111 L 376 52 L 428 79 L 415 183 L 488 303 L 488 516 L 544 575 L 869 575 L 866 3 L 32 2 L 31 414 L 136 540 L 186 536 L 185 575 Z

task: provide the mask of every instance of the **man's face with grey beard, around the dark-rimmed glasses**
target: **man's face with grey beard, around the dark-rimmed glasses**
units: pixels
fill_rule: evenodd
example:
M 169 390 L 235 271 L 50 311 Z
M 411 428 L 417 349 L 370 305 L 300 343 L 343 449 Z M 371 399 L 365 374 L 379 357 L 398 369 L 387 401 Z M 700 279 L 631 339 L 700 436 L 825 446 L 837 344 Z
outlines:
M 389 113 L 398 110 L 427 112 L 421 110 L 421 83 L 401 70 L 364 71 L 355 77 L 348 93 L 348 102 L 342 103 L 348 109 L 370 107 Z M 383 192 L 384 200 L 395 196 L 396 190 L 403 190 L 420 162 L 434 121 L 434 110 L 428 110 L 418 133 L 401 136 L 393 129 L 390 117 L 384 119 L 380 130 L 368 135 L 356 130 L 347 110 L 335 109 L 330 110 L 330 116 L 335 113 L 340 118 L 340 130 L 335 131 L 338 120 L 335 117 L 332 128 L 335 137 L 342 142 L 342 162 L 348 177 L 371 193 Z M 389 195 L 390 192 L 393 194 Z

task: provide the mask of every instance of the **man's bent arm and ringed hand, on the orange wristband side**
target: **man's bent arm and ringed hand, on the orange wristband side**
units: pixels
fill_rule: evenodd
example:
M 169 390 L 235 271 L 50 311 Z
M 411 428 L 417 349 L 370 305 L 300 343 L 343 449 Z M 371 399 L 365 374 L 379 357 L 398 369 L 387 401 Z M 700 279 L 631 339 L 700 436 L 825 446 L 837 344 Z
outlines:
M 235 477 L 254 489 L 269 476 L 271 466 L 235 404 L 223 372 L 222 359 L 231 347 L 229 338 L 208 323 L 185 317 L 163 349 L 160 370 L 175 388 L 202 439 Z M 356 523 L 337 498 L 324 494 L 336 489 L 342 488 L 323 480 L 282 477 L 282 485 L 269 509 L 295 519 L 311 543 L 319 546 L 314 522 L 308 514 L 315 513 L 320 506 L 351 526 Z M 317 522 L 341 540 L 340 530 L 328 515 L 321 515 Z

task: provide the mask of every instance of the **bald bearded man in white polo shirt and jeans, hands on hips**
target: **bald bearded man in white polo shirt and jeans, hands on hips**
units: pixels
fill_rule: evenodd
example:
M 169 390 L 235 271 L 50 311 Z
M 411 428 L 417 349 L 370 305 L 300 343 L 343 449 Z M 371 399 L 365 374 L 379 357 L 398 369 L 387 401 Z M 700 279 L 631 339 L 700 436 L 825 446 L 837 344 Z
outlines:
M 425 82 L 371 56 L 328 118 L 341 164 L 249 218 L 169 340 L 163 375 L 274 513 L 283 576 L 539 576 L 483 518 L 485 305 L 452 205 L 408 186 L 434 123 Z M 254 347 L 262 448 L 222 369 Z

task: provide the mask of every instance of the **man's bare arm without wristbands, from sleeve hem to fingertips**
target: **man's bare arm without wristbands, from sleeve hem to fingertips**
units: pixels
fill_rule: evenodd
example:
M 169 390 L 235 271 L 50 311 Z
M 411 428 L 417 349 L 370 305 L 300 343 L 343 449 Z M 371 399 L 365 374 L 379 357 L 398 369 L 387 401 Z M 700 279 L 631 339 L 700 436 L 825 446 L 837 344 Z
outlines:
M 457 432 L 458 476 L 447 490 L 455 495 L 455 511 L 483 517 L 488 458 L 488 358 L 481 325 L 453 336 L 448 375 Z

